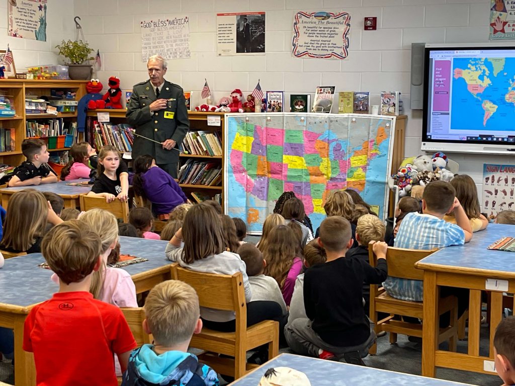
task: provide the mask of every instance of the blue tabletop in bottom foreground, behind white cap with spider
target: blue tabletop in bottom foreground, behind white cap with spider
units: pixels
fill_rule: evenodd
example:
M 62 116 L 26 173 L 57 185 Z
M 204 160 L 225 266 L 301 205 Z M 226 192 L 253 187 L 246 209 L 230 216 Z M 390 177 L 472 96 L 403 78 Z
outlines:
M 231 383 L 231 385 L 256 386 L 259 384 L 261 377 L 265 374 L 267 369 L 279 366 L 291 367 L 291 369 L 303 372 L 313 386 L 391 386 L 392 384 L 451 386 L 466 384 L 445 381 L 442 379 L 426 378 L 418 375 L 396 373 L 387 370 L 372 369 L 372 367 L 301 357 L 293 354 L 281 354 L 261 366 L 258 370 L 255 370 L 251 374 Z

